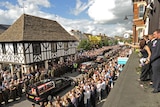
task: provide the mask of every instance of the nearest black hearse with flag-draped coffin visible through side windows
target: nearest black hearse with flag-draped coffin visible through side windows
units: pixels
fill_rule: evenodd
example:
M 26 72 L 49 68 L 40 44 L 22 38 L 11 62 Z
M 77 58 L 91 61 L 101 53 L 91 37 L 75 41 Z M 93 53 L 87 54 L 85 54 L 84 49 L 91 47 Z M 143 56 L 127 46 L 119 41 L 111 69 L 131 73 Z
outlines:
M 51 100 L 57 92 L 71 86 L 73 79 L 69 77 L 59 77 L 45 79 L 31 85 L 27 89 L 26 98 L 37 104 Z

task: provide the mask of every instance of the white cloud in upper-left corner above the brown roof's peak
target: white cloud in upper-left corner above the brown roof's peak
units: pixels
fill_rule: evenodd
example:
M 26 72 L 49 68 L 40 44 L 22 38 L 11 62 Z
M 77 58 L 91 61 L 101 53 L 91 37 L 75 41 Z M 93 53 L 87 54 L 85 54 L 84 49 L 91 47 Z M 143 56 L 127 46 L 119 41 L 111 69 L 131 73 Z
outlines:
M 50 7 L 48 0 L 17 0 L 18 4 L 13 5 L 9 2 L 0 2 L 0 5 L 6 9 L 0 9 L 0 23 L 1 24 L 12 24 L 17 18 L 23 13 L 40 16 L 44 18 L 51 18 L 54 15 L 44 13 L 41 11 L 41 7 Z

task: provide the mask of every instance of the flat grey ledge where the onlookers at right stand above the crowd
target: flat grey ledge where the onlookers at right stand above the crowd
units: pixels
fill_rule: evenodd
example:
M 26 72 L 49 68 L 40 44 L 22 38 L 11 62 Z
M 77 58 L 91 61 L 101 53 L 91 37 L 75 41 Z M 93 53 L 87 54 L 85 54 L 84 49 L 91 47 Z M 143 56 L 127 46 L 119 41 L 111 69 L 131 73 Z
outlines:
M 133 52 L 101 107 L 160 107 L 160 93 L 151 93 L 149 81 L 140 82 L 139 76 L 139 57 Z

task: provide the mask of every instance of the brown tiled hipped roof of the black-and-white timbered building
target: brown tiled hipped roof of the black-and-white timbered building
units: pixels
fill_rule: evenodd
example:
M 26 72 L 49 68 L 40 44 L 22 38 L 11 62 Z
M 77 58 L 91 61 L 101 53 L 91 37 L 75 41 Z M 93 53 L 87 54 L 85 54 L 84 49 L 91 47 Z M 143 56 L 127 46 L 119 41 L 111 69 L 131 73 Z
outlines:
M 22 41 L 77 41 L 77 39 L 56 21 L 23 14 L 0 35 L 0 42 Z

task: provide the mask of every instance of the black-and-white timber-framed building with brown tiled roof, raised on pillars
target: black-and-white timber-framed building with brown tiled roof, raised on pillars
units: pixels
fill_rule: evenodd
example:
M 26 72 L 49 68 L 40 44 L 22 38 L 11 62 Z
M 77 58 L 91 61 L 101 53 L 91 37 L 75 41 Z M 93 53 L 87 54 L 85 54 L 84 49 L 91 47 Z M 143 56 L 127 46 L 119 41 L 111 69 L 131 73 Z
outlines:
M 0 63 L 20 65 L 22 72 L 38 62 L 74 55 L 77 39 L 56 21 L 23 14 L 0 35 Z

